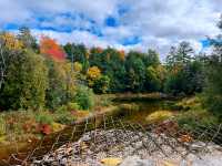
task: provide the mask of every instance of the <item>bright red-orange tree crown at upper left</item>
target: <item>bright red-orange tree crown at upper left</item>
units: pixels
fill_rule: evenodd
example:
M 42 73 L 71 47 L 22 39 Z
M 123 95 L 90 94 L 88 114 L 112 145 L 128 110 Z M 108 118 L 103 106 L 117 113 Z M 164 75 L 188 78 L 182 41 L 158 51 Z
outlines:
M 50 56 L 56 61 L 62 61 L 65 59 L 65 53 L 56 42 L 56 40 L 50 39 L 49 37 L 42 37 L 40 40 L 40 52 Z

